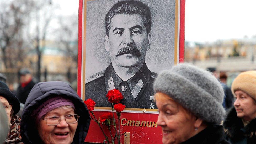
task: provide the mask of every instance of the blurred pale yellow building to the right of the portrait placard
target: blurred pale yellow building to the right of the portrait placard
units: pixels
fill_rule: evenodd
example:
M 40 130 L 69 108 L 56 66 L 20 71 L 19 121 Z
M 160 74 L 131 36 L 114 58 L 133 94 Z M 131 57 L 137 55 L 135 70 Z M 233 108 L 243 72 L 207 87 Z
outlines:
M 256 37 L 217 40 L 211 43 L 185 42 L 185 62 L 201 68 L 215 67 L 227 74 L 227 85 L 243 71 L 256 70 Z

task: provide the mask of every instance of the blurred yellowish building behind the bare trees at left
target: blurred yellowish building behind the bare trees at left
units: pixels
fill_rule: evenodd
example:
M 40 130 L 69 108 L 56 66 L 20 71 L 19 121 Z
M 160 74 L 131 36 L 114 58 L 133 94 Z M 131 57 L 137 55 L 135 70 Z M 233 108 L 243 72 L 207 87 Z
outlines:
M 77 41 L 71 42 L 74 51 L 77 51 Z M 72 83 L 77 79 L 77 61 L 74 60 L 72 54 L 68 54 L 65 47 L 60 47 L 56 41 L 46 41 L 45 47 L 42 49 L 41 58 L 41 81 L 65 81 Z M 14 68 L 6 68 L 2 60 L 3 53 L 0 51 L 0 73 L 7 77 L 8 84 L 18 83 L 18 71 L 21 68 L 29 68 L 34 76 L 37 75 L 38 56 L 35 50 L 28 50 L 23 61 L 19 61 Z M 10 55 L 8 58 L 14 58 Z

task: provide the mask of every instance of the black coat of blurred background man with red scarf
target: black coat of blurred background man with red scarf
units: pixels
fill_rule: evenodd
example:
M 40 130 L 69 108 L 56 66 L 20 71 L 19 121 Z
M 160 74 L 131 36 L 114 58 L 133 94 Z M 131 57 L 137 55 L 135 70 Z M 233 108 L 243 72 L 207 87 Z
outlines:
M 17 98 L 19 99 L 20 103 L 25 104 L 26 99 L 34 85 L 35 83 L 33 80 L 31 80 L 24 88 L 19 85 L 17 88 Z

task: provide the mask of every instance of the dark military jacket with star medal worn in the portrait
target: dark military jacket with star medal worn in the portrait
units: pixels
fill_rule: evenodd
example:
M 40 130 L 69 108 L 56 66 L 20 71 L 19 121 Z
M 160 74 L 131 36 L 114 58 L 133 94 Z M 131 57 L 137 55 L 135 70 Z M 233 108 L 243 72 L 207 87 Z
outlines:
M 106 95 L 109 90 L 118 89 L 124 96 L 120 103 L 126 108 L 156 109 L 153 90 L 156 77 L 157 74 L 151 72 L 144 62 L 132 78 L 123 81 L 110 63 L 106 70 L 86 78 L 85 99 L 91 98 L 99 107 L 111 107 Z

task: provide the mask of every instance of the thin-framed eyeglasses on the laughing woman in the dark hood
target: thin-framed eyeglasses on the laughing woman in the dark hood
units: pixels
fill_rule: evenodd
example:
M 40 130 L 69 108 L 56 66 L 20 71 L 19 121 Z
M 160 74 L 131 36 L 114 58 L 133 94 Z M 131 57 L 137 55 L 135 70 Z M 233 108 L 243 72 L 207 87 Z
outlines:
M 48 118 L 43 118 L 43 120 L 46 120 L 46 124 L 49 126 L 58 125 L 61 121 L 61 119 L 65 119 L 68 124 L 74 124 L 78 121 L 78 118 L 80 118 L 77 114 L 71 114 L 65 116 L 65 118 L 60 118 L 59 116 L 50 116 Z

